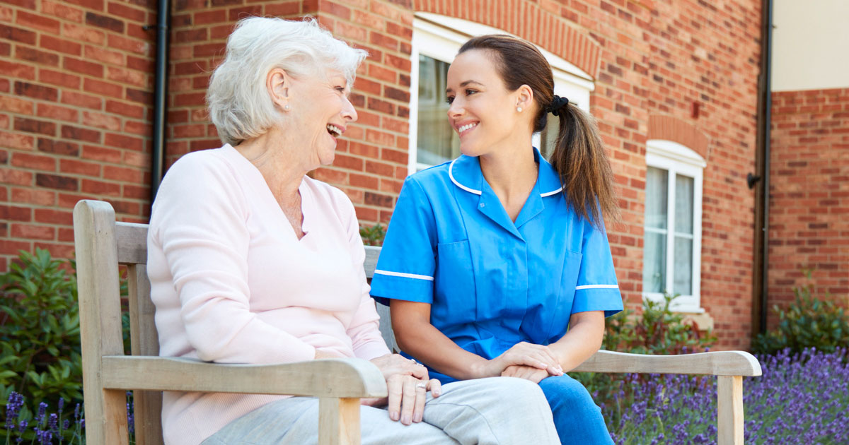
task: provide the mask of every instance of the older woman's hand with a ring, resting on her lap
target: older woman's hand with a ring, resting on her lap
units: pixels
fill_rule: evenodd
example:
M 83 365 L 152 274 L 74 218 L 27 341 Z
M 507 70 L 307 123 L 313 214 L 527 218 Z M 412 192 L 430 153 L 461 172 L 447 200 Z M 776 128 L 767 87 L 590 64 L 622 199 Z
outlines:
M 386 354 L 371 360 L 386 379 L 388 398 L 363 399 L 363 404 L 381 406 L 388 404 L 391 420 L 401 420 L 404 425 L 420 422 L 424 415 L 427 392 L 439 397 L 440 382 L 428 380 L 427 368 L 398 354 Z

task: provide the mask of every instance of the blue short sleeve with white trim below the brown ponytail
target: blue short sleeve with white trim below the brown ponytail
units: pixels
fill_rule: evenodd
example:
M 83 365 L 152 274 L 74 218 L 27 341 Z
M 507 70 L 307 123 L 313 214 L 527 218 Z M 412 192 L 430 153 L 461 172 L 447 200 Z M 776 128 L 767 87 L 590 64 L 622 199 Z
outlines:
M 607 232 L 604 230 L 604 224 L 599 229 L 590 221 L 582 220 L 584 227 L 581 270 L 578 271 L 571 313 L 604 310 L 604 316 L 609 317 L 624 308 L 616 281 L 616 270 L 613 269 L 613 256 L 610 254 Z

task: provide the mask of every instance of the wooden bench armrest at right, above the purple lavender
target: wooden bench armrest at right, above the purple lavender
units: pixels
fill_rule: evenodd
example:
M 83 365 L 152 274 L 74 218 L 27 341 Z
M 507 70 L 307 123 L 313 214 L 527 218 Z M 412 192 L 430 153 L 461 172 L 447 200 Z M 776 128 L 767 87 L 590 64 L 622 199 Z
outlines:
M 744 351 L 648 355 L 601 350 L 575 371 L 756 376 L 761 375 L 761 364 Z

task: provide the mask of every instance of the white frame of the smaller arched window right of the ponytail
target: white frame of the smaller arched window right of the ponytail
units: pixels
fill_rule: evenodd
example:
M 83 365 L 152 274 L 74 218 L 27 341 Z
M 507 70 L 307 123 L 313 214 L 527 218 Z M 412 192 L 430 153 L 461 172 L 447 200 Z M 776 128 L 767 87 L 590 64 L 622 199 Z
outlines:
M 662 139 L 649 139 L 646 142 L 645 164 L 668 171 L 666 187 L 666 289 L 672 290 L 675 253 L 675 178 L 676 175 L 693 178 L 693 294 L 681 295 L 672 303 L 672 310 L 678 312 L 703 313 L 701 307 L 701 206 L 702 183 L 705 159 L 689 147 L 678 142 Z M 644 230 L 645 227 L 644 227 Z M 644 266 L 645 267 L 645 266 Z M 643 292 L 643 298 L 663 301 L 663 294 Z

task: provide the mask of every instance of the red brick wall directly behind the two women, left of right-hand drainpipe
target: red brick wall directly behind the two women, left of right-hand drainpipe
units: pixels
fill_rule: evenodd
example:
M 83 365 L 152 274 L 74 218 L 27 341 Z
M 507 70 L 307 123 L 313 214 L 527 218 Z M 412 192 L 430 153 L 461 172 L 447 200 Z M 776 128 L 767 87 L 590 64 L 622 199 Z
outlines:
M 143 184 L 152 103 L 147 73 L 154 36 L 141 25 L 155 17 L 147 3 L 80 1 L 87 3 L 59 8 L 48 0 L 16 0 L 0 7 L 0 63 L 8 64 L 0 76 L 0 190 L 8 203 L 3 211 L 14 218 L 0 234 L 2 255 L 32 248 L 37 236 L 49 238 L 37 242 L 61 244 L 60 253 L 69 253 L 68 211 L 76 197 L 108 197 L 125 218 L 147 212 Z M 590 107 L 610 150 L 623 209 L 622 224 L 609 227 L 610 241 L 632 306 L 642 292 L 649 115 L 681 120 L 706 136 L 702 305 L 717 322 L 722 347 L 745 348 L 754 203 L 745 173 L 754 170 L 755 159 L 759 5 L 756 0 L 718 7 L 698 0 L 181 0 L 172 14 L 168 162 L 220 145 L 203 97 L 233 23 L 245 14 L 316 14 L 371 56 L 352 94 L 359 122 L 340 142 L 335 165 L 314 175 L 345 190 L 364 223 L 387 221 L 407 172 L 414 12 L 497 26 L 595 76 Z M 69 12 L 51 14 L 50 8 Z M 87 21 L 89 13 L 97 15 Z M 57 34 L 72 44 L 53 42 L 50 37 Z M 76 103 L 63 102 L 68 99 Z M 53 143 L 42 142 L 39 149 L 40 139 Z M 66 172 L 63 160 L 89 164 Z M 117 170 L 121 167 L 127 170 Z M 13 199 L 19 189 L 27 197 Z M 53 219 L 43 220 L 48 214 Z M 12 219 L 6 215 L 4 220 Z

